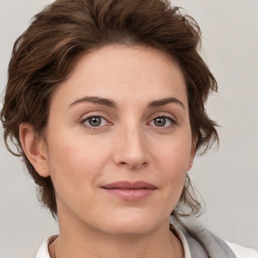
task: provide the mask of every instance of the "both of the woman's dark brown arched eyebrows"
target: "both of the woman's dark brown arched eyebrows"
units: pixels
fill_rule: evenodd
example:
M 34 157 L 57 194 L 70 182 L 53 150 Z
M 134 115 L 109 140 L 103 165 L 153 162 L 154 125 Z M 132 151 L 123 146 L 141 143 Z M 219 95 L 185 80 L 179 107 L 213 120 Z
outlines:
M 106 99 L 106 98 L 100 98 L 100 97 L 89 97 L 89 96 L 85 96 L 75 100 L 72 104 L 69 105 L 69 108 L 82 102 L 91 102 L 94 104 L 117 108 L 116 103 L 112 99 Z M 176 103 L 180 105 L 183 108 L 183 110 L 185 110 L 184 104 L 175 97 L 168 97 L 164 99 L 154 100 L 147 105 L 147 108 L 160 107 L 168 103 Z

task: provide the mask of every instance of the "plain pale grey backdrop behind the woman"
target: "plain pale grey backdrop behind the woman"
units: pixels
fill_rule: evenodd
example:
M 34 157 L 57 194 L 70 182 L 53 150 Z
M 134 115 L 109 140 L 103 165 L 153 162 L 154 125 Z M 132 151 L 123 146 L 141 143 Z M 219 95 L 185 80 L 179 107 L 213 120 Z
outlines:
M 0 0 L 0 91 L 15 39 L 47 0 Z M 218 80 L 207 111 L 221 125 L 220 149 L 197 158 L 190 177 L 201 192 L 210 230 L 258 249 L 258 1 L 175 0 L 203 32 L 202 56 Z M 1 102 L 3 95 L 1 95 Z M 0 136 L 0 258 L 33 258 L 58 233 L 38 204 L 33 181 Z

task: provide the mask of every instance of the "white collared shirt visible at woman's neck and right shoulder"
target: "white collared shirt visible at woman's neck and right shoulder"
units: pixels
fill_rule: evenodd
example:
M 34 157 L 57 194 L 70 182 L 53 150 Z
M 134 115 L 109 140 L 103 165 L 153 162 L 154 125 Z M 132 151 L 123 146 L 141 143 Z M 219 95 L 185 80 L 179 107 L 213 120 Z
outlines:
M 191 258 L 189 246 L 187 244 L 187 241 L 185 239 L 184 234 L 177 228 L 175 228 L 177 231 L 179 240 L 182 243 L 183 250 L 184 250 L 184 258 Z M 48 245 L 57 237 L 58 235 L 51 235 L 47 237 L 43 243 L 41 244 L 36 258 L 50 258 L 49 252 L 48 252 Z M 243 247 L 236 243 L 231 243 L 226 241 L 226 243 L 229 245 L 229 247 L 233 250 L 237 258 L 258 258 L 258 251 Z

